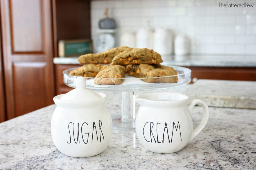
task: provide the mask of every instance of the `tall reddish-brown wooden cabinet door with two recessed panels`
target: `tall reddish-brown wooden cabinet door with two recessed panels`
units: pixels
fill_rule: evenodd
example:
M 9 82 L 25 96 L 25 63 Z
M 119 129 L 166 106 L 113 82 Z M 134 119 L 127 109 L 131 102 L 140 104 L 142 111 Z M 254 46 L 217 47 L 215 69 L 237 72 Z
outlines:
M 1 0 L 7 119 L 53 103 L 50 0 Z

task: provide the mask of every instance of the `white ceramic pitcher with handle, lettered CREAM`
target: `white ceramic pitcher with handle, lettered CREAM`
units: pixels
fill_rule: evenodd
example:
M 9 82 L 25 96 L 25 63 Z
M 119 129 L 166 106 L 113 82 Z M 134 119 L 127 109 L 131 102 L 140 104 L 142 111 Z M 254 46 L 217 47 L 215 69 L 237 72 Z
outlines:
M 137 95 L 140 104 L 136 120 L 136 135 L 149 151 L 173 153 L 184 148 L 206 126 L 209 119 L 207 104 L 178 93 L 149 93 Z M 196 104 L 203 107 L 203 118 L 193 129 L 192 109 Z

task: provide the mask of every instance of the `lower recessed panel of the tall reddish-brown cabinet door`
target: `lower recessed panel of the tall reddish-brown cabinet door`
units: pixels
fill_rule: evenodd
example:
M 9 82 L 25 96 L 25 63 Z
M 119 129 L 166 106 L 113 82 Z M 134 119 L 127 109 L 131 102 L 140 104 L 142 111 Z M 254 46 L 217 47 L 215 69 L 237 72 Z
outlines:
M 15 115 L 34 111 L 47 105 L 47 86 L 44 81 L 45 62 L 21 62 L 13 64 Z

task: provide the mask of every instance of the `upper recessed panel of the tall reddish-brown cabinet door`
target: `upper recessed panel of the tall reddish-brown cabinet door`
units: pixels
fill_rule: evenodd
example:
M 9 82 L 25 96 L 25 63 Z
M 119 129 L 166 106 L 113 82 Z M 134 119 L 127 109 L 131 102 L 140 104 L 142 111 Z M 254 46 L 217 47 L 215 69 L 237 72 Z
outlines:
M 10 28 L 12 53 L 43 51 L 43 10 L 40 0 L 11 0 Z M 33 7 L 33 8 L 30 8 Z M 33 15 L 31 15 L 33 14 Z M 24 29 L 26 28 L 26 29 Z M 38 40 L 36 43 L 34 40 Z

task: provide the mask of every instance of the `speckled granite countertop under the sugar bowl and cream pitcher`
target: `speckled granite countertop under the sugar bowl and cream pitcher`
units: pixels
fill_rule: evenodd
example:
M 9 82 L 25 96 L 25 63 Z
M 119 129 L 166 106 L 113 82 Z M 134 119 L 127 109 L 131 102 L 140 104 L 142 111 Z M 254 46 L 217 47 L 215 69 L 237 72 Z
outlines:
M 194 85 L 197 88 L 203 87 L 207 85 L 207 81 L 198 81 L 197 85 L 195 83 L 166 91 L 189 93 L 189 89 L 194 90 Z M 230 82 L 208 81 L 208 83 L 224 86 L 225 83 Z M 232 83 L 236 84 L 235 81 Z M 244 82 L 244 85 L 253 89 L 255 87 L 253 83 Z M 202 91 L 204 89 L 207 87 L 202 88 Z M 106 92 L 106 94 L 108 95 L 106 104 L 114 125 L 120 121 L 121 93 Z M 224 96 L 228 95 L 228 92 L 224 95 L 221 95 L 221 92 L 210 94 L 211 91 L 205 93 L 209 96 L 207 103 L 214 98 L 217 99 L 218 95 L 225 101 Z M 233 96 L 241 97 L 244 94 L 245 91 L 237 92 Z M 200 98 L 200 94 L 197 98 Z M 240 100 L 242 98 L 238 97 L 236 101 Z M 229 102 L 232 103 L 232 101 L 227 103 Z M 253 102 L 255 104 L 254 100 Z M 54 146 L 50 121 L 56 105 L 50 105 L 0 123 L 0 169 L 255 169 L 256 110 L 216 107 L 214 102 L 210 105 L 213 106 L 209 107 L 208 124 L 179 152 L 158 154 L 147 151 L 139 143 L 134 129 L 114 128 L 107 149 L 99 155 L 88 158 L 68 157 Z M 200 122 L 201 112 L 202 108 L 199 106 L 193 109 L 194 126 Z

